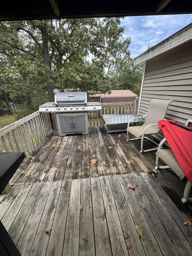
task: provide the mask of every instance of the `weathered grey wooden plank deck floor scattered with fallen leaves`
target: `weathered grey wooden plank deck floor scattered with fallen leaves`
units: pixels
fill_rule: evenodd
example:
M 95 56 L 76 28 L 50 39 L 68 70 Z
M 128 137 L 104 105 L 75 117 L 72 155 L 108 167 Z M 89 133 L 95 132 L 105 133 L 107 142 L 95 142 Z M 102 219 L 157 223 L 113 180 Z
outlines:
M 192 219 L 192 207 L 180 200 L 186 180 L 165 170 L 153 177 L 155 151 L 141 154 L 139 146 L 101 127 L 66 137 L 51 131 L 1 197 L 1 221 L 20 253 L 190 255 L 192 228 L 183 218 Z

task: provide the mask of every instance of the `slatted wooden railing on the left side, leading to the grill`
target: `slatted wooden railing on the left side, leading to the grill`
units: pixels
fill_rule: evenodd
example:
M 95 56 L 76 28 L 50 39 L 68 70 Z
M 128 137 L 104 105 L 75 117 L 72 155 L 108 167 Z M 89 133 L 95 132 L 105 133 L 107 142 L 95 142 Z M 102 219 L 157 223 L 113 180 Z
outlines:
M 37 111 L 0 129 L 0 152 L 25 152 L 27 158 L 50 130 L 48 114 Z

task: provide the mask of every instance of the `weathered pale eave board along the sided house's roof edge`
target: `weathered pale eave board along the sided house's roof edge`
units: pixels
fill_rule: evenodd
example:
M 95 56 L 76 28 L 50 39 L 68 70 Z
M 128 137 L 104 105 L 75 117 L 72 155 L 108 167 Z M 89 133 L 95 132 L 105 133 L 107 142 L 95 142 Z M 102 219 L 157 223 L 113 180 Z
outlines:
M 159 44 L 140 54 L 134 59 L 134 65 L 140 64 L 148 59 L 152 59 L 162 53 L 165 53 L 187 41 L 192 40 L 192 23 L 171 35 Z

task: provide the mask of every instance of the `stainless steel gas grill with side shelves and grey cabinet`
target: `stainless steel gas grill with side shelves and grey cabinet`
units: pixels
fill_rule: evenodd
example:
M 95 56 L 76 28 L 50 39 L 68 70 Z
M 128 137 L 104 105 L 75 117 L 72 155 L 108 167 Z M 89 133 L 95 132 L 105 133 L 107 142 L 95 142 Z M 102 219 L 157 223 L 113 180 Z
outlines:
M 87 102 L 86 92 L 57 92 L 55 102 L 39 107 L 39 112 L 56 113 L 59 136 L 88 134 L 88 112 L 101 110 L 101 103 Z

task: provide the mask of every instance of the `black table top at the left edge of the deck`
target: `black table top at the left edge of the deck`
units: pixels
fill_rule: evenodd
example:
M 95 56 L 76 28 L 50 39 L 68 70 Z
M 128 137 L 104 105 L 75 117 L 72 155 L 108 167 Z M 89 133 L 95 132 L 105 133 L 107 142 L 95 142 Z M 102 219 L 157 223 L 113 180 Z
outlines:
M 0 153 L 0 194 L 25 158 L 24 152 Z

